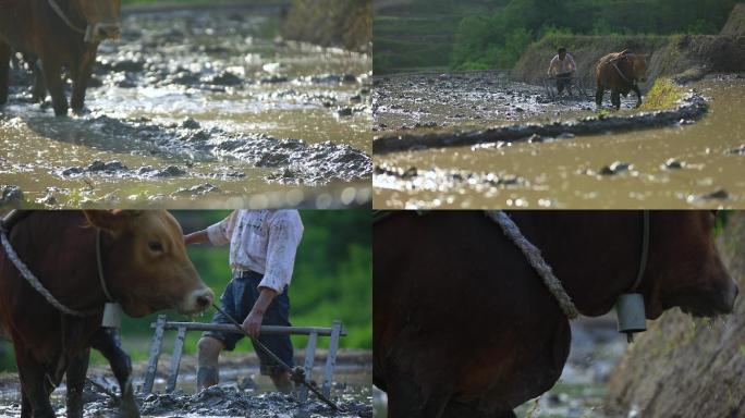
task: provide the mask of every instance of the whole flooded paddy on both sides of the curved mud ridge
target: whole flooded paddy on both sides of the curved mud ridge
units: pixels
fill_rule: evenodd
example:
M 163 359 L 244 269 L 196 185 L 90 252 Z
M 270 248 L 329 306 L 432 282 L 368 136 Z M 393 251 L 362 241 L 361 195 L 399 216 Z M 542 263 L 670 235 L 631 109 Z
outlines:
M 417 88 L 423 83 L 431 85 L 429 95 L 435 96 L 430 98 L 404 88 L 389 93 L 386 83 L 393 78 L 380 84 L 383 88 L 376 90 L 374 104 L 376 135 L 426 133 L 428 127 L 440 132 L 500 125 L 521 128 L 598 114 L 589 99 L 555 103 L 546 99 L 542 87 L 494 81 L 493 76 L 467 83 L 461 78 L 432 76 L 422 82 L 414 77 L 410 82 L 403 77 L 394 83 L 412 83 Z M 461 89 L 462 84 L 467 89 Z M 745 202 L 745 78 L 713 75 L 686 88 L 709 104 L 699 120 L 612 134 L 537 135 L 518 142 L 376 152 L 374 206 L 741 207 Z M 632 97 L 611 115 L 637 114 L 631 109 Z M 420 104 L 427 100 L 442 104 Z

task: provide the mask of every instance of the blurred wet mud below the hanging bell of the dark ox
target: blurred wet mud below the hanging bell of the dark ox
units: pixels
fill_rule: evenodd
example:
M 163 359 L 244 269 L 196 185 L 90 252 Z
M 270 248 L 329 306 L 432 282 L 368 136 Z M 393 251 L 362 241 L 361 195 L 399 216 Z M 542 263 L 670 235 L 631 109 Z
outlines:
M 572 345 L 561 378 L 549 392 L 516 408 L 518 417 L 608 417 L 603 413 L 606 388 L 627 347 L 625 335 L 616 332 L 613 314 L 582 318 L 571 327 Z M 386 417 L 386 394 L 376 388 L 376 417 Z

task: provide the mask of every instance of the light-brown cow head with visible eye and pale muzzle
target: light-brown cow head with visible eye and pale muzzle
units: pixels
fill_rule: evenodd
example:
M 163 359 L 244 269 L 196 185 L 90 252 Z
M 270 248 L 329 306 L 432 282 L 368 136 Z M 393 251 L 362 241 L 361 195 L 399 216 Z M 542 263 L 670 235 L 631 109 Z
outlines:
M 106 281 L 124 311 L 142 317 L 155 310 L 200 312 L 215 295 L 186 255 L 181 225 L 164 210 L 85 211 L 107 235 Z

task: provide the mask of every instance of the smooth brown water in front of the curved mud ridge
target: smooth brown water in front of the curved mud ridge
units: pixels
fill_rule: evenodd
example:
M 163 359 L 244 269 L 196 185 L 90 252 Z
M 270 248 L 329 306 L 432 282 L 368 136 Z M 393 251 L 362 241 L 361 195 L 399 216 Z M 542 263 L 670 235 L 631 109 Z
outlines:
M 698 122 L 613 135 L 376 156 L 379 208 L 689 208 L 745 206 L 745 79 L 689 86 Z M 632 112 L 626 110 L 625 112 Z M 390 172 L 399 175 L 390 175 Z M 382 171 L 381 171 L 382 172 Z

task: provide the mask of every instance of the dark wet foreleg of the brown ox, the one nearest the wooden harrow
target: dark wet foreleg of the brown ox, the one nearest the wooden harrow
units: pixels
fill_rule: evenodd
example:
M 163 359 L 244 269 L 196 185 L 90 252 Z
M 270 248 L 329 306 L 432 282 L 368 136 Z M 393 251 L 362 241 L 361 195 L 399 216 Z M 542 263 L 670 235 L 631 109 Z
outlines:
M 119 344 L 117 330 L 101 328 L 93 339 L 93 347 L 99 351 L 111 365 L 119 388 L 122 392 L 122 402 L 119 405 L 119 416 L 138 418 L 139 408 L 134 399 L 132 389 L 132 360 Z

